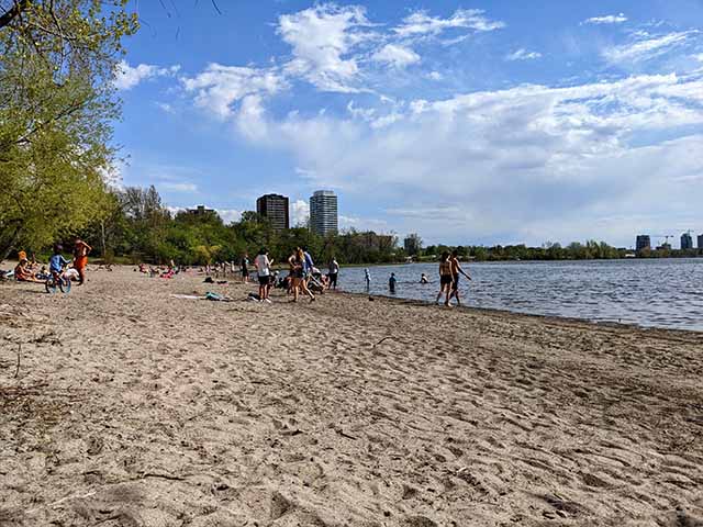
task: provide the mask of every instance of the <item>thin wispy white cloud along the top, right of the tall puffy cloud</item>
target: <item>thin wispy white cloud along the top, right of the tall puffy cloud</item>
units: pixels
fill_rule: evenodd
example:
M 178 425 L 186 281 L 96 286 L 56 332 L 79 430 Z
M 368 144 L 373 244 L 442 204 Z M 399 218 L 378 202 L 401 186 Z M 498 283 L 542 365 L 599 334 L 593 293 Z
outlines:
M 458 9 L 448 19 L 431 16 L 427 11 L 415 11 L 393 31 L 403 38 L 423 35 L 437 36 L 446 30 L 465 29 L 473 31 L 494 31 L 505 27 L 500 21 L 491 21 L 480 9 Z

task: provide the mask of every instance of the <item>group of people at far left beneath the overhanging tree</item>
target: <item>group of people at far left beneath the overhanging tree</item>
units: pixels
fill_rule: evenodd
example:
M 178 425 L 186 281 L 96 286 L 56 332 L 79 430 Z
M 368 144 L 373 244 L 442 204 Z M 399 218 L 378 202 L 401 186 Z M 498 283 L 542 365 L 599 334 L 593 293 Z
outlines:
M 64 258 L 63 250 L 64 247 L 60 244 L 54 245 L 52 257 L 48 260 L 48 269 L 46 265 L 37 262 L 34 255 L 30 260 L 26 251 L 20 250 L 18 253 L 19 262 L 14 267 L 12 276 L 19 282 L 44 282 L 51 277 L 58 278 L 63 276 L 69 280 L 77 281 L 78 285 L 82 285 L 86 281 L 88 255 L 92 247 L 82 239 L 76 238 L 72 261 Z

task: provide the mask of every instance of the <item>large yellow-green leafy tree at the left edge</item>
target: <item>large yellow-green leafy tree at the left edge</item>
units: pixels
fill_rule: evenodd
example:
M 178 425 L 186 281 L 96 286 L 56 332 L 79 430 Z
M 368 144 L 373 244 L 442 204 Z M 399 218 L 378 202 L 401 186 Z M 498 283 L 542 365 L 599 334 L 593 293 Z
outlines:
M 104 213 L 126 0 L 0 0 L 0 258 Z

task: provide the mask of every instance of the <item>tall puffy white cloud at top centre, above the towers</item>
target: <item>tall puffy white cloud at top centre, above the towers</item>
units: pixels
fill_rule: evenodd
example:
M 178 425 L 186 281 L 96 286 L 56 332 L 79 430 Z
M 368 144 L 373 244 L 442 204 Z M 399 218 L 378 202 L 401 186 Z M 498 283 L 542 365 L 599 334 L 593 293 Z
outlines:
M 354 85 L 359 66 L 352 52 L 373 38 L 366 31 L 370 25 L 359 5 L 339 8 L 326 3 L 281 15 L 277 31 L 293 54 L 286 71 L 324 91 L 360 91 Z

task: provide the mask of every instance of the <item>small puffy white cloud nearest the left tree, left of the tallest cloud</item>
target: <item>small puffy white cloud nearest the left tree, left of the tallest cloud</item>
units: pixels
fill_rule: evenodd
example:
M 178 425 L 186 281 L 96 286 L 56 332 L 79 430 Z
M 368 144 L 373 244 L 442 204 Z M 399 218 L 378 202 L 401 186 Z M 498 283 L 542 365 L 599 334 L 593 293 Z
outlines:
M 233 114 L 232 105 L 247 96 L 274 94 L 287 87 L 274 69 L 257 69 L 209 64 L 196 77 L 181 79 L 187 92 L 196 94 L 196 104 L 221 119 Z

